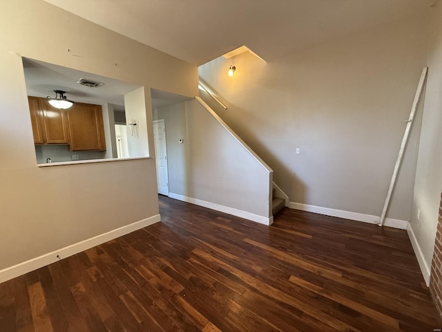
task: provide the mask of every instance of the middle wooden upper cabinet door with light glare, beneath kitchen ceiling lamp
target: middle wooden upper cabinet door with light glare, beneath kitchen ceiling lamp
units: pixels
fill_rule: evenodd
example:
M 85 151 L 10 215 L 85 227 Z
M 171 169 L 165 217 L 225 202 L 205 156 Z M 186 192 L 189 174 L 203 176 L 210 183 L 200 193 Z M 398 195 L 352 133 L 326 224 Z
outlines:
M 69 144 L 66 110 L 56 109 L 39 98 L 43 109 L 44 132 L 48 144 Z

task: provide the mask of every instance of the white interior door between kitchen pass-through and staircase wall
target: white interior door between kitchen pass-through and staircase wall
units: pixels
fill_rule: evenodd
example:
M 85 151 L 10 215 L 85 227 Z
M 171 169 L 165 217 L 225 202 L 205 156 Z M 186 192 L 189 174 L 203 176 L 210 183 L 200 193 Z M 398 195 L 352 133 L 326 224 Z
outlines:
M 155 163 L 157 165 L 158 194 L 169 196 L 166 127 L 164 126 L 164 119 L 153 121 L 153 141 L 155 142 Z

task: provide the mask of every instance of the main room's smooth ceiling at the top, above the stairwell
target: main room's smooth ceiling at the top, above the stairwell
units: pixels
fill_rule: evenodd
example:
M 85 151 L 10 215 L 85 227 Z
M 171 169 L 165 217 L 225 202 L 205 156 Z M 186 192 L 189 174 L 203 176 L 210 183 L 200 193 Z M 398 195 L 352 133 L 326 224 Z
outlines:
M 423 12 L 436 0 L 45 0 L 199 66 L 242 45 L 266 61 Z

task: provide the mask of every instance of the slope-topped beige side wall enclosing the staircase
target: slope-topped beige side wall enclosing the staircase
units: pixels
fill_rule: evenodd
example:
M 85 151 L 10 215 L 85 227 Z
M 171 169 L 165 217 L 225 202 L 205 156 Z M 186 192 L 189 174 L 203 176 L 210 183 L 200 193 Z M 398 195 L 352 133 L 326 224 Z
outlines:
M 197 102 L 186 102 L 189 196 L 269 217 L 271 169 Z

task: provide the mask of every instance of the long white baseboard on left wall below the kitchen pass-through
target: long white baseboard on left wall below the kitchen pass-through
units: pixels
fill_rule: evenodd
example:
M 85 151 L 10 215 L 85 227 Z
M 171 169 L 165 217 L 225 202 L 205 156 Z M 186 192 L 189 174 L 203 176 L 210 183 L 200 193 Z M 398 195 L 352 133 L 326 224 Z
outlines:
M 7 280 L 15 277 L 19 277 L 20 275 L 24 275 L 25 273 L 28 273 L 30 271 L 37 270 L 37 268 L 52 264 L 55 261 L 59 260 L 57 258 L 57 255 L 60 257 L 60 259 L 64 259 L 66 257 L 75 255 L 78 252 L 98 246 L 99 244 L 102 244 L 106 241 L 111 241 L 113 239 L 116 239 L 117 237 L 122 237 L 125 234 L 133 232 L 135 230 L 139 230 L 140 228 L 144 228 L 148 225 L 152 225 L 153 223 L 157 223 L 160 220 L 160 214 L 155 214 L 154 216 L 136 221 L 135 223 L 131 223 L 130 225 L 125 225 L 123 227 L 117 228 L 116 230 L 111 230 L 109 232 L 99 234 L 96 237 L 91 237 L 90 239 L 74 243 L 64 248 L 60 248 L 59 250 L 48 252 L 45 255 L 29 259 L 28 261 L 23 261 L 23 263 L 19 263 L 15 266 L 4 268 L 3 270 L 0 270 L 0 283 L 6 282 Z

